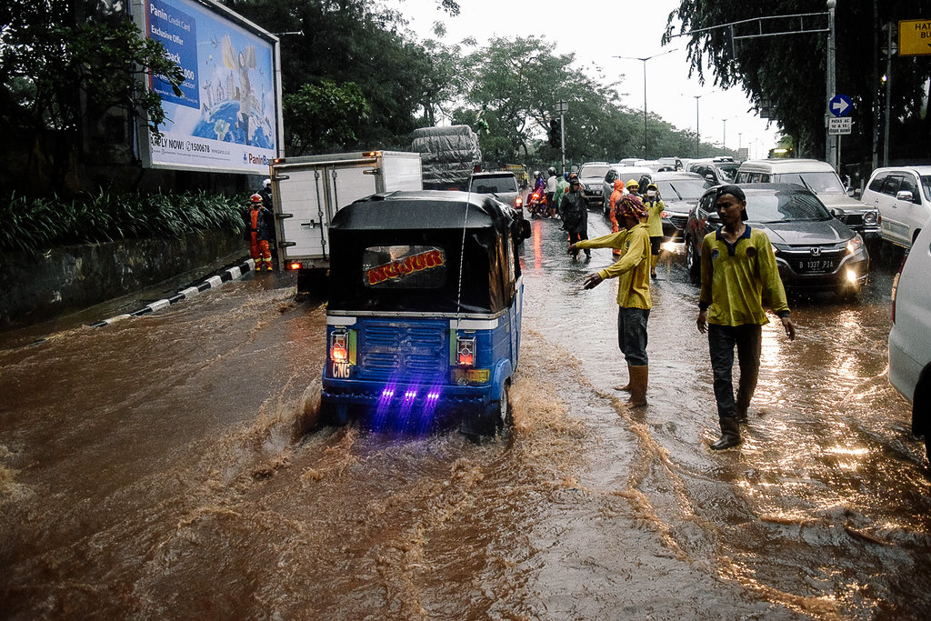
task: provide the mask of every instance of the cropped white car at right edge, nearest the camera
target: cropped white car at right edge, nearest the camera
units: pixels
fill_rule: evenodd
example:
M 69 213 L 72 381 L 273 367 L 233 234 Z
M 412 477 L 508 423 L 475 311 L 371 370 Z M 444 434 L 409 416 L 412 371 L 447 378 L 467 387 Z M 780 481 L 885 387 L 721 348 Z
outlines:
M 911 431 L 931 459 L 931 221 L 922 226 L 892 290 L 889 382 L 911 401 Z

